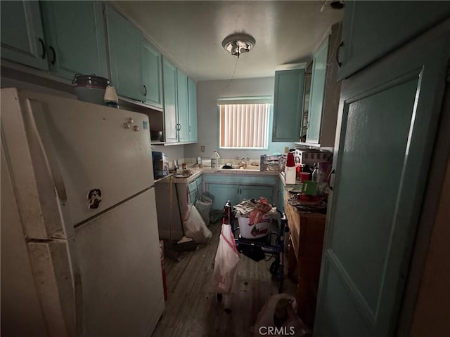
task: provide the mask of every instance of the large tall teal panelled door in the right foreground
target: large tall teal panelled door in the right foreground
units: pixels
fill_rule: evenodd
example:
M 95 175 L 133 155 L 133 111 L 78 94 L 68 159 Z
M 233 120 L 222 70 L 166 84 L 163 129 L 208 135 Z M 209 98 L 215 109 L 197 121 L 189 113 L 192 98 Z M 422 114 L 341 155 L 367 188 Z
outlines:
M 449 60 L 447 25 L 342 84 L 316 337 L 395 335 Z

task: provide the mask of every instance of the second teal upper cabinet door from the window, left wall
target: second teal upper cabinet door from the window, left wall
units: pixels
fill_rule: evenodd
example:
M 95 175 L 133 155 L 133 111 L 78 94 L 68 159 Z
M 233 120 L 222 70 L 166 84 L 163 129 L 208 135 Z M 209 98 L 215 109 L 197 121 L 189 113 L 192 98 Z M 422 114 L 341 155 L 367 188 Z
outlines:
M 178 103 L 178 140 L 183 143 L 189 140 L 188 77 L 178 68 L 176 68 L 176 97 Z

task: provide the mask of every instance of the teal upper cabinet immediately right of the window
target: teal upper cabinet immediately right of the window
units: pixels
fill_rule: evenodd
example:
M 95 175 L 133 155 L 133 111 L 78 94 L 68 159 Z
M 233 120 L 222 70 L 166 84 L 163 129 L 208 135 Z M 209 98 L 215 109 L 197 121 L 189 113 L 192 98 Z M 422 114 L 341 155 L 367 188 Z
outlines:
M 275 72 L 272 142 L 298 142 L 302 126 L 304 69 Z

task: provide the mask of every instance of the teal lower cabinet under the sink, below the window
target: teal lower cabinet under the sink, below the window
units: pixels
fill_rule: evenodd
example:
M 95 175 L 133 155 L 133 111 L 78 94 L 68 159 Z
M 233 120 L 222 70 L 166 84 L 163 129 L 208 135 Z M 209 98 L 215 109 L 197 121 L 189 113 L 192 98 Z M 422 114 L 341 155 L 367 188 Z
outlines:
M 236 174 L 205 174 L 205 192 L 212 199 L 212 209 L 222 209 L 226 201 L 232 205 L 239 204 L 243 199 L 266 198 L 273 204 L 277 197 L 278 176 L 251 176 Z

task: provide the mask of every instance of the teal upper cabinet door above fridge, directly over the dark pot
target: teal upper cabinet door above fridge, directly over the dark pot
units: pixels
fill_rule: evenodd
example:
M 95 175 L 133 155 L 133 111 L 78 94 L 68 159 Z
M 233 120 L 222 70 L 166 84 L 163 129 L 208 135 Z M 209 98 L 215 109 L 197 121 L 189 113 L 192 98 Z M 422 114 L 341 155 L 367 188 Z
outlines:
M 41 1 L 51 72 L 109 77 L 102 4 L 98 1 Z

